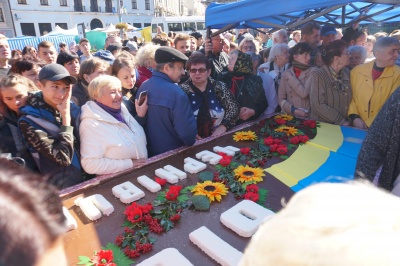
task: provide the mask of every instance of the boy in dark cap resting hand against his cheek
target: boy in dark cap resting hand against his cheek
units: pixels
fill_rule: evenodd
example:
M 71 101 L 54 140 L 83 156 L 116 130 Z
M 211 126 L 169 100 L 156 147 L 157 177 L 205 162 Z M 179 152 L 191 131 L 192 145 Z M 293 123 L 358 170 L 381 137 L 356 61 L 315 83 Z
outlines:
M 59 64 L 39 72 L 40 92 L 21 108 L 19 129 L 42 175 L 59 189 L 83 182 L 79 162 L 80 108 L 71 103 L 76 79 Z

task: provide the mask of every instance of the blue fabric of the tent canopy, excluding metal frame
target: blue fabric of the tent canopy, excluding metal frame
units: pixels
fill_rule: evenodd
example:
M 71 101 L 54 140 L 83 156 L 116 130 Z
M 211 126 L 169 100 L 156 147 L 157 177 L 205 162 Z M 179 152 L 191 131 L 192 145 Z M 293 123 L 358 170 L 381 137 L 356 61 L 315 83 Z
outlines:
M 346 5 L 348 3 L 351 5 Z M 342 25 L 342 5 L 346 5 L 346 16 L 344 23 L 350 23 L 352 19 L 359 16 L 359 12 L 355 9 L 363 9 L 371 5 L 368 2 L 351 2 L 348 0 L 243 0 L 227 4 L 211 3 L 206 9 L 206 27 L 210 26 L 212 29 L 221 29 L 227 25 L 232 25 L 230 28 L 268 28 L 268 23 L 286 25 L 286 23 L 296 20 L 301 21 L 302 18 L 310 16 L 310 13 L 305 11 L 315 8 L 329 8 L 332 10 L 328 14 L 330 16 L 323 16 L 321 14 L 316 17 L 318 22 L 332 23 L 330 19 L 335 20 L 337 25 Z M 336 8 L 332 8 L 337 6 Z M 385 8 L 390 7 L 387 4 L 376 4 L 376 6 L 368 8 L 366 15 L 376 14 Z M 326 14 L 325 12 L 324 14 Z M 389 21 L 398 21 L 399 17 L 394 17 L 400 13 L 400 7 L 395 6 L 387 12 L 380 12 L 373 16 L 375 20 L 384 20 L 391 18 Z M 289 17 L 295 19 L 290 20 Z M 393 17 L 393 18 L 392 18 Z M 296 19 L 297 18 L 297 19 Z M 329 19 L 328 19 L 329 18 Z M 262 24 L 259 21 L 266 22 Z M 361 21 L 361 23 L 370 23 L 369 21 Z M 270 28 L 274 25 L 270 24 Z M 299 25 L 302 23 L 300 22 Z

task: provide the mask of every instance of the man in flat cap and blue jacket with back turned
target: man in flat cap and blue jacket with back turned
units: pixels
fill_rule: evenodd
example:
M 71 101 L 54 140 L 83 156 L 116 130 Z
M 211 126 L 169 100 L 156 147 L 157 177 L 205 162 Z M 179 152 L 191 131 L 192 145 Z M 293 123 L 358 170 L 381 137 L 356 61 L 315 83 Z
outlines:
M 197 124 L 187 95 L 176 84 L 184 74 L 188 58 L 171 47 L 155 52 L 153 76 L 136 94 L 147 91 L 147 123 L 144 126 L 149 156 L 155 156 L 196 141 Z

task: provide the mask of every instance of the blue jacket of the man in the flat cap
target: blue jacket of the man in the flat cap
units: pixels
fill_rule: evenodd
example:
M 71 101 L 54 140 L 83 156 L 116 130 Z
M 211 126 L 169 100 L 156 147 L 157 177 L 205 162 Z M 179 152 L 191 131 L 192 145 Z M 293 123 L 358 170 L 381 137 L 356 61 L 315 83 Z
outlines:
M 197 124 L 186 93 L 159 71 L 140 86 L 136 97 L 142 91 L 147 91 L 149 106 L 144 126 L 149 156 L 193 145 Z

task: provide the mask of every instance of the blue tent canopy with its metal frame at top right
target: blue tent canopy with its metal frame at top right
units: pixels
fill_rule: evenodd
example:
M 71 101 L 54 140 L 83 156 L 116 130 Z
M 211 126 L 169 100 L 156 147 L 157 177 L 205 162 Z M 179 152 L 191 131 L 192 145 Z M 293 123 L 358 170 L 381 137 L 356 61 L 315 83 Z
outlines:
M 212 29 L 288 28 L 311 20 L 336 27 L 361 21 L 382 23 L 400 20 L 399 0 L 243 0 L 212 3 L 206 10 L 206 26 Z

